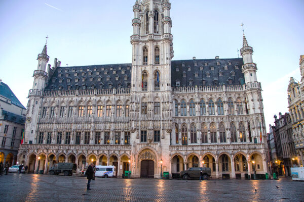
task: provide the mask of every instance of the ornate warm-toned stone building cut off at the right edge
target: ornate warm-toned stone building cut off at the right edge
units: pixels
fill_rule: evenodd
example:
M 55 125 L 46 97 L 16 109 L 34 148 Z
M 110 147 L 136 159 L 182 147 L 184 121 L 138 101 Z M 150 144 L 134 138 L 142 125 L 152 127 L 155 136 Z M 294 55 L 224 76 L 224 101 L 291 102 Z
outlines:
M 296 161 L 303 167 L 304 163 L 304 55 L 300 56 L 301 81 L 290 78 L 288 85 L 288 108 L 292 122 L 292 138 L 297 153 Z

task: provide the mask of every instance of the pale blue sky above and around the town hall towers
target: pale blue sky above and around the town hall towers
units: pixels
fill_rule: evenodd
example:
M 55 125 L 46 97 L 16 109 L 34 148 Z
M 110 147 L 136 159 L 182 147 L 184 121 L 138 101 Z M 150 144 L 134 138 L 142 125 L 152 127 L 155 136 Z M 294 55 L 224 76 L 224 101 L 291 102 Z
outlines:
M 303 0 L 171 0 L 173 60 L 237 58 L 243 32 L 253 47 L 267 129 L 288 112 L 287 86 L 300 81 Z M 131 63 L 135 0 L 0 0 L 0 78 L 26 107 L 37 54 L 48 36 L 49 64 Z

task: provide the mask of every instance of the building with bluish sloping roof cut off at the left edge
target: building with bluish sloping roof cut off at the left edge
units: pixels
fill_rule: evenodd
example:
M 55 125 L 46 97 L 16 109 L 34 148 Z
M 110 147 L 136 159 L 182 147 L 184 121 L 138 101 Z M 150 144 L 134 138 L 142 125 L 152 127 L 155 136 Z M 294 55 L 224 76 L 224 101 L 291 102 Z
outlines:
M 17 163 L 26 109 L 10 87 L 0 79 L 0 162 Z M 25 163 L 25 162 L 23 162 Z

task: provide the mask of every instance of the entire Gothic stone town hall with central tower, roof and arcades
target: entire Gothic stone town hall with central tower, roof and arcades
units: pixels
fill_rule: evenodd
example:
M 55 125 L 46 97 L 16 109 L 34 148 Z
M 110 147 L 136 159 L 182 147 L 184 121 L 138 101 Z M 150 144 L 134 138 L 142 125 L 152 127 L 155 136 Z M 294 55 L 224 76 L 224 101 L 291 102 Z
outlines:
M 115 165 L 117 176 L 170 177 L 210 167 L 213 178 L 267 172 L 261 84 L 253 49 L 242 58 L 174 61 L 168 0 L 133 6 L 132 63 L 61 67 L 38 55 L 28 94 L 29 171 L 55 162 Z M 115 61 L 113 61 L 115 63 Z

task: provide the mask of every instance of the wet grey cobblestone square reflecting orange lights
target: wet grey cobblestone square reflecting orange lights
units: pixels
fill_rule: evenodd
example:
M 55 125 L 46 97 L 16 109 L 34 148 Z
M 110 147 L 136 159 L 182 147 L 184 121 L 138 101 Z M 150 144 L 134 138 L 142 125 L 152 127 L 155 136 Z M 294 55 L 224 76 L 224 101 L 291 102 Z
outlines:
M 160 180 L 77 176 L 0 176 L 0 201 L 304 201 L 304 182 L 280 180 Z M 278 186 L 279 188 L 277 188 Z M 256 190 L 255 190 L 256 189 Z

